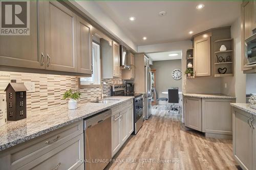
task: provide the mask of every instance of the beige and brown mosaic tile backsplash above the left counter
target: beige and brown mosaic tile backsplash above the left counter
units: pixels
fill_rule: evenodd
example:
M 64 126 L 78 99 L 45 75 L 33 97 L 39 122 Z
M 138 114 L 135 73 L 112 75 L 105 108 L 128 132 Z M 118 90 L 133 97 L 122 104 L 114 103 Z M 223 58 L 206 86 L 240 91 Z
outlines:
M 31 74 L 23 72 L 0 71 L 0 94 L 11 80 L 17 83 L 35 82 L 35 92 L 27 93 L 27 110 L 44 110 L 67 104 L 61 100 L 62 94 L 68 89 L 81 92 L 80 101 L 90 102 L 101 97 L 101 87 L 78 89 L 78 78 L 75 76 Z M 103 79 L 106 82 L 104 94 L 111 95 L 111 85 L 124 83 L 121 78 Z

